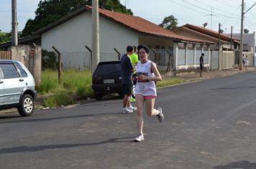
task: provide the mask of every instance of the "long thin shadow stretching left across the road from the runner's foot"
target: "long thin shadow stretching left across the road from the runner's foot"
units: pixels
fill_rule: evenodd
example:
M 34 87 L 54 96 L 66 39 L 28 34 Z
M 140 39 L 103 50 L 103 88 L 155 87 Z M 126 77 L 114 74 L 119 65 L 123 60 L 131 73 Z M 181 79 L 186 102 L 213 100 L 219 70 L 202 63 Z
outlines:
M 85 144 L 62 144 L 62 145 L 39 145 L 39 146 L 19 146 L 14 148 L 1 148 L 0 154 L 8 154 L 8 153 L 24 153 L 24 152 L 36 152 L 42 150 L 52 150 L 59 148 L 76 148 L 90 145 L 102 145 L 108 143 L 132 143 L 134 137 L 119 137 L 119 138 L 110 138 L 109 140 L 97 142 L 97 143 L 85 143 Z

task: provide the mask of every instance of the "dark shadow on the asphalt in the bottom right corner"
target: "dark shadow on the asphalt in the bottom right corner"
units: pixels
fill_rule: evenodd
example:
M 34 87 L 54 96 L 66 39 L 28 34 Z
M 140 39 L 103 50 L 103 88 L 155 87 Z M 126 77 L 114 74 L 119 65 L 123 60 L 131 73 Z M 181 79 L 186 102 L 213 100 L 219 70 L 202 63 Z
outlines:
M 227 165 L 219 165 L 214 167 L 214 169 L 234 169 L 234 168 L 252 169 L 252 168 L 256 168 L 256 163 L 251 163 L 250 161 L 244 160 L 244 161 L 228 163 Z

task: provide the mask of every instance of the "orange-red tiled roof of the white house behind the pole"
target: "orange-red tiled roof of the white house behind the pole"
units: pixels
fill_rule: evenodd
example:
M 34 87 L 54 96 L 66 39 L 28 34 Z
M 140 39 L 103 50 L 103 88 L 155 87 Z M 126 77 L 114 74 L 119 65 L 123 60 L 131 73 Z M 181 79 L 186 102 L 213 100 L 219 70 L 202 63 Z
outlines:
M 59 24 L 62 24 L 63 22 L 65 22 L 69 19 L 72 19 L 73 17 L 78 16 L 78 14 L 81 14 L 84 11 L 88 11 L 88 10 L 90 10 L 90 11 L 92 10 L 91 6 L 83 6 L 83 7 L 81 7 L 81 9 L 77 9 L 76 11 L 73 11 L 72 13 L 68 14 L 67 16 L 64 16 L 63 18 L 59 19 L 58 21 L 55 21 L 55 23 L 49 24 L 45 27 L 42 27 L 41 29 L 37 30 L 37 32 L 35 32 L 35 34 L 42 34 L 44 32 L 47 32 L 48 30 L 52 29 L 53 27 L 58 26 Z M 153 24 L 152 22 L 147 21 L 146 19 L 142 19 L 139 16 L 122 14 L 119 12 L 109 11 L 106 9 L 99 9 L 99 14 L 108 19 L 116 21 L 119 24 L 127 26 L 127 27 L 129 27 L 129 29 L 132 29 L 134 32 L 138 32 L 140 34 L 150 34 L 152 36 L 173 39 L 178 42 L 214 44 L 214 42 L 180 36 L 178 34 L 175 34 L 174 32 L 171 32 L 168 29 L 164 29 L 161 26 Z

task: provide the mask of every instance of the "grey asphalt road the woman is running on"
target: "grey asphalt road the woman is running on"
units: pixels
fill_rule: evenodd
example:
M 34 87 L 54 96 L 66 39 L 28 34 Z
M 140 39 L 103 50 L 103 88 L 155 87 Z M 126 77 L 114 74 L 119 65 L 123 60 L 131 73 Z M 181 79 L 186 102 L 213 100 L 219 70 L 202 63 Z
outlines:
M 256 168 L 256 72 L 158 90 L 165 121 L 136 115 L 122 100 L 0 116 L 0 168 Z

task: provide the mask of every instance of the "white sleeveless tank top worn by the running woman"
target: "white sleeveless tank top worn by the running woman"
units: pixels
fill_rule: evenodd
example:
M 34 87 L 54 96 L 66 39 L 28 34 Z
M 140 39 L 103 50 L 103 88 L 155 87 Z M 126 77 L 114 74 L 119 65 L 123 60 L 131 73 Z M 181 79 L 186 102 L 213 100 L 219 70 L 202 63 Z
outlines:
M 147 60 L 147 62 L 143 64 L 139 61 L 137 64 L 136 73 L 143 74 L 148 77 L 153 77 L 155 75 L 151 72 L 150 66 L 151 66 L 150 60 Z M 149 80 L 143 81 L 140 78 L 137 78 L 135 94 L 140 94 L 142 96 L 156 96 L 157 91 L 155 88 L 155 82 L 149 81 Z

